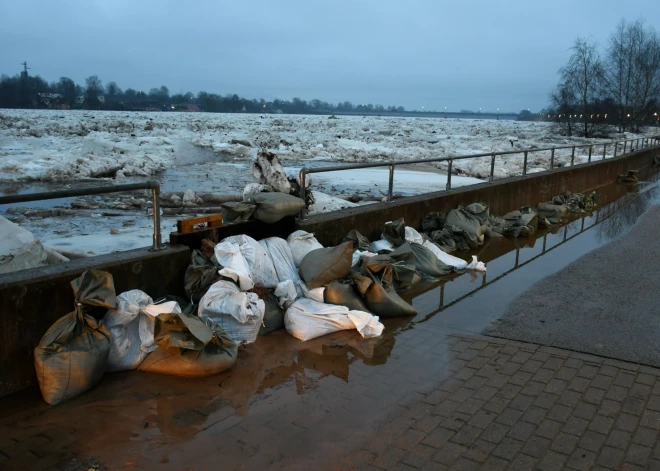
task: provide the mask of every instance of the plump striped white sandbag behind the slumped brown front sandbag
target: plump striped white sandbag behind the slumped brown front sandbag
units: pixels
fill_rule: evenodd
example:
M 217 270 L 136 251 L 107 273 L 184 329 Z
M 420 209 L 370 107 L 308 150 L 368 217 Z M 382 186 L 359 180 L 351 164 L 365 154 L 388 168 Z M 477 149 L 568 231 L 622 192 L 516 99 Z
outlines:
M 197 314 L 220 326 L 237 344 L 257 339 L 266 305 L 255 293 L 244 293 L 231 281 L 211 285 L 199 301 Z

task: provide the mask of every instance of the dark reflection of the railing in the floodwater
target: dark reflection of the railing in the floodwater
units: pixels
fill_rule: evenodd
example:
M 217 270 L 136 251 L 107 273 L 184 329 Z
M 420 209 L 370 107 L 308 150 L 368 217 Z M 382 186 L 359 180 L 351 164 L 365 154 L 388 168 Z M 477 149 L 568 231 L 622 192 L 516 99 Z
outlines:
M 658 175 L 660 175 L 660 174 L 658 174 Z M 653 178 L 653 180 L 657 180 L 657 176 L 656 176 L 655 178 Z M 505 271 L 504 273 L 502 273 L 501 275 L 499 275 L 499 276 L 493 278 L 493 279 L 490 280 L 490 281 L 488 281 L 488 279 L 487 279 L 487 273 L 484 273 L 483 278 L 482 278 L 482 281 L 481 281 L 481 285 L 480 285 L 479 287 L 477 287 L 477 288 L 473 289 L 472 291 L 470 291 L 470 292 L 468 292 L 468 293 L 466 293 L 466 294 L 464 294 L 464 295 L 458 297 L 457 299 L 453 300 L 452 302 L 450 302 L 450 303 L 447 304 L 447 305 L 444 304 L 444 298 L 445 298 L 445 285 L 447 284 L 447 282 L 442 283 L 442 284 L 440 285 L 440 306 L 438 307 L 438 309 L 436 309 L 436 310 L 434 310 L 434 311 L 428 313 L 428 314 L 427 314 L 422 320 L 420 320 L 420 321 L 416 321 L 415 324 L 419 324 L 419 323 L 422 323 L 422 322 L 426 322 L 426 321 L 429 320 L 431 317 L 433 317 L 435 314 L 437 314 L 437 313 L 439 313 L 439 312 L 442 312 L 442 311 L 444 311 L 445 309 L 448 309 L 448 308 L 454 306 L 455 304 L 461 302 L 461 301 L 464 300 L 465 298 L 468 298 L 468 297 L 472 296 L 473 294 L 475 294 L 475 293 L 481 291 L 481 290 L 484 289 L 485 287 L 487 287 L 487 286 L 489 286 L 489 285 L 491 285 L 491 284 L 493 284 L 493 283 L 495 283 L 495 282 L 501 280 L 502 278 L 504 278 L 505 276 L 507 276 L 507 275 L 511 274 L 512 272 L 518 270 L 519 268 L 522 268 L 522 267 L 524 267 L 524 266 L 530 264 L 531 262 L 533 262 L 533 261 L 537 260 L 538 258 L 542 257 L 543 255 L 545 255 L 545 254 L 551 252 L 552 250 L 556 249 L 557 247 L 560 247 L 560 246 L 564 245 L 566 242 L 568 242 L 568 241 L 574 239 L 575 237 L 579 236 L 580 234 L 582 234 L 582 233 L 588 231 L 588 230 L 591 229 L 592 227 L 595 227 L 595 226 L 597 226 L 597 225 L 599 225 L 599 224 L 601 224 L 601 223 L 603 223 L 603 222 L 609 220 L 609 219 L 612 218 L 612 216 L 614 216 L 618 211 L 620 211 L 621 209 L 623 209 L 623 208 L 625 208 L 626 206 L 630 205 L 632 202 L 636 201 L 638 198 L 642 197 L 643 195 L 644 195 L 644 193 L 629 193 L 629 194 L 627 194 L 626 196 L 624 196 L 623 198 L 620 198 L 620 199 L 618 199 L 618 200 L 616 200 L 616 201 L 614 201 L 614 202 L 608 204 L 607 206 L 605 206 L 605 207 L 603 207 L 603 208 L 600 208 L 600 209 L 598 209 L 597 211 L 594 211 L 594 212 L 591 214 L 591 217 L 593 218 L 593 215 L 595 214 L 596 220 L 595 220 L 595 222 L 594 222 L 593 224 L 591 224 L 590 226 L 587 226 L 587 227 L 584 226 L 584 224 L 585 224 L 585 220 L 587 219 L 587 217 L 590 217 L 590 216 L 589 216 L 589 215 L 584 215 L 584 216 L 581 218 L 580 230 L 579 230 L 578 232 L 576 232 L 575 234 L 571 235 L 571 236 L 568 235 L 569 227 L 570 227 L 571 225 L 573 225 L 575 222 L 577 222 L 578 220 L 576 219 L 576 220 L 574 220 L 574 221 L 571 221 L 571 222 L 567 223 L 566 225 L 563 226 L 563 228 L 564 228 L 564 236 L 563 236 L 563 240 L 562 240 L 561 242 L 559 242 L 559 243 L 553 245 L 552 247 L 549 247 L 549 248 L 547 247 L 547 238 L 548 238 L 548 235 L 551 235 L 551 234 L 554 235 L 554 234 L 557 234 L 557 233 L 560 232 L 560 231 L 557 231 L 557 232 L 546 232 L 546 233 L 543 235 L 543 247 L 542 247 L 541 253 L 539 253 L 538 255 L 535 255 L 534 257 L 530 258 L 529 260 L 527 260 L 527 261 L 525 261 L 525 262 L 520 263 L 520 250 L 521 250 L 521 248 L 520 248 L 520 247 L 517 247 L 517 248 L 515 249 L 515 252 L 516 252 L 516 258 L 515 258 L 515 262 L 514 262 L 514 266 L 513 266 L 513 268 L 511 268 L 511 269 Z M 643 212 L 645 209 L 646 209 L 646 207 L 644 207 L 644 208 L 641 210 L 641 212 Z M 605 214 L 603 215 L 603 213 L 605 213 Z M 639 216 L 639 214 L 638 214 L 637 216 Z M 537 240 L 538 240 L 538 239 L 537 239 Z M 507 253 L 511 253 L 511 252 L 507 252 Z M 505 255 L 506 255 L 506 254 L 505 254 Z M 498 257 L 498 258 L 500 258 L 500 257 Z

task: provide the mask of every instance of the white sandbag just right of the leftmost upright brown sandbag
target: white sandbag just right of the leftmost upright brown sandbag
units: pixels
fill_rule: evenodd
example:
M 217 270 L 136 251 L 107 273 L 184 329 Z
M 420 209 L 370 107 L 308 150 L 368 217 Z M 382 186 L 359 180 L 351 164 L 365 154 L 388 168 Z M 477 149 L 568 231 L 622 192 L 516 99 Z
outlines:
M 110 331 L 110 353 L 106 371 L 134 370 L 148 355 L 141 348 L 140 316 L 146 314 L 140 312 L 152 303 L 151 297 L 139 289 L 117 296 L 117 309 L 110 309 L 102 321 L 102 325 Z

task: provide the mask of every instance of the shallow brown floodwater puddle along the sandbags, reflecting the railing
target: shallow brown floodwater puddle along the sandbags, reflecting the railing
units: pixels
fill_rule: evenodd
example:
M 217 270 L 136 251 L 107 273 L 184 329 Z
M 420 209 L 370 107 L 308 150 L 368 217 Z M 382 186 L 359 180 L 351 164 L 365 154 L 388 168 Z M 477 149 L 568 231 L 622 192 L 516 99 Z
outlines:
M 604 193 L 616 198 L 565 228 L 491 240 L 479 254 L 485 276 L 403 293 L 419 315 L 385 319 L 377 339 L 339 332 L 302 343 L 279 331 L 241 349 L 230 372 L 211 378 L 133 371 L 107 374 L 94 390 L 55 407 L 38 390 L 4 398 L 0 467 L 341 468 L 334 463 L 378 437 L 399 405 L 452 380 L 462 353 L 453 348 L 457 336 L 481 332 L 511 299 L 617 237 L 646 209 L 634 206 L 635 214 L 612 223 L 616 209 L 637 196 L 620 187 Z

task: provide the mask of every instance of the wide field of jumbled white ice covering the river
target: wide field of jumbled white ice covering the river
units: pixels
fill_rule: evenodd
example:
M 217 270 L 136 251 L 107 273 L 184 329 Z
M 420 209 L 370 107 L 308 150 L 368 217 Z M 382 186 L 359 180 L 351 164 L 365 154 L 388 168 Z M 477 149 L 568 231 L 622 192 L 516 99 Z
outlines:
M 0 181 L 149 176 L 195 163 L 195 149 L 218 160 L 251 161 L 264 148 L 286 161 L 371 162 L 448 157 L 605 142 L 553 134 L 549 123 L 306 115 L 0 110 Z M 555 156 L 564 162 L 568 152 Z M 533 155 L 532 166 L 547 166 Z M 520 172 L 522 156 L 496 163 Z M 445 165 L 441 165 L 444 168 Z M 484 178 L 490 159 L 455 162 Z

